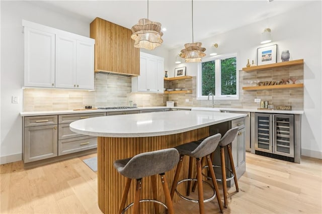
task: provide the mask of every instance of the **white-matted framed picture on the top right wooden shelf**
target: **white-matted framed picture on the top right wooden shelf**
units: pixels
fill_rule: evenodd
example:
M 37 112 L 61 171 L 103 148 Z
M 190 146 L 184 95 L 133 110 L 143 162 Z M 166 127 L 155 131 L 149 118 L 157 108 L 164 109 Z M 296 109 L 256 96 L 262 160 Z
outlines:
M 257 65 L 276 63 L 277 45 L 270 45 L 257 49 Z

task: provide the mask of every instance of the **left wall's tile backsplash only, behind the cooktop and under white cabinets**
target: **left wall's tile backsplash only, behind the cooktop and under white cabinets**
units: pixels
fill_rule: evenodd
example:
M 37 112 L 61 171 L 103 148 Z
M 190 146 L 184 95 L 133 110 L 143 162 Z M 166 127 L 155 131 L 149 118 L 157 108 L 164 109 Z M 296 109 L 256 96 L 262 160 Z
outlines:
M 24 89 L 24 112 L 59 111 L 102 106 L 127 106 L 130 100 L 138 106 L 163 106 L 167 94 L 131 93 L 131 77 L 95 74 L 95 90 Z

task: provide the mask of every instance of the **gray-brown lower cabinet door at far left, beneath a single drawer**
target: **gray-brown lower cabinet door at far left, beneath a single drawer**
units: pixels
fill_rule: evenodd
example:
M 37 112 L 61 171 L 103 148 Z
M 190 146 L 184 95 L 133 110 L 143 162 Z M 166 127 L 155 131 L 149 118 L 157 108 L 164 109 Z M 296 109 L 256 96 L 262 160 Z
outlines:
M 25 128 L 24 162 L 57 156 L 57 125 Z

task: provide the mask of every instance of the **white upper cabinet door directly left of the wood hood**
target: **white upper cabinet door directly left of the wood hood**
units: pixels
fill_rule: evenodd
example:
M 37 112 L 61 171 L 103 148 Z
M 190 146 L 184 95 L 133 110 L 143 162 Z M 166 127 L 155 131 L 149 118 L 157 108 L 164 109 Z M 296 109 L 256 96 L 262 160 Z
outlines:
M 94 43 L 77 41 L 76 87 L 94 89 Z

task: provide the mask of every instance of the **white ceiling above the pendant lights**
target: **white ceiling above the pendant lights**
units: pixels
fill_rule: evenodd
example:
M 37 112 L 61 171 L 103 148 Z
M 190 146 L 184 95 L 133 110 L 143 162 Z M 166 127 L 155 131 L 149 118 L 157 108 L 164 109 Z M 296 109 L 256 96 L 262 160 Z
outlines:
M 32 2 L 40 7 L 76 16 L 88 23 L 96 17 L 131 29 L 139 19 L 147 17 L 147 1 L 41 1 Z M 263 20 L 263 30 L 269 26 L 269 18 L 309 1 L 218 1 L 194 0 L 194 41 L 227 32 Z M 167 48 L 192 42 L 190 0 L 149 0 L 149 20 L 160 22 L 167 28 L 162 37 Z

